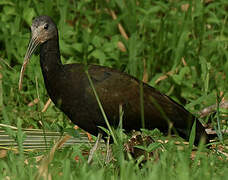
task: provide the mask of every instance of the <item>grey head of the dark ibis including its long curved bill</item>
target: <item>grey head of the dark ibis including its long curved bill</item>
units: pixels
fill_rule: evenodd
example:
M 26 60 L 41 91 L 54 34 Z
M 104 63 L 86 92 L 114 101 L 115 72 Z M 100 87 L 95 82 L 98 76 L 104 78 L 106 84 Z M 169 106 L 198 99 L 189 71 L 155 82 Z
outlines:
M 46 41 L 58 36 L 58 31 L 55 23 L 49 16 L 36 17 L 31 26 L 31 39 L 24 57 L 23 66 L 21 68 L 19 79 L 19 90 L 22 88 L 22 80 L 26 65 L 28 64 L 33 52 Z

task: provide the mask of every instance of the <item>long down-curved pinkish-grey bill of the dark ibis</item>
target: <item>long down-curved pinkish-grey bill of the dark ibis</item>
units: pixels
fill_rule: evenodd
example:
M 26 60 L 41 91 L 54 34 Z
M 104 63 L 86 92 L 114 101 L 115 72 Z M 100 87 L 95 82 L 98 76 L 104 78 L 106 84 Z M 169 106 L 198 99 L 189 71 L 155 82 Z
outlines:
M 29 63 L 29 60 L 30 60 L 33 52 L 35 51 L 36 47 L 39 44 L 40 44 L 40 42 L 39 42 L 38 38 L 31 38 L 29 45 L 28 45 L 28 49 L 27 49 L 25 57 L 24 57 L 23 65 L 21 67 L 21 73 L 20 73 L 20 78 L 19 78 L 19 83 L 18 83 L 19 90 L 22 89 L 22 83 L 23 83 L 23 77 L 24 77 L 26 65 Z

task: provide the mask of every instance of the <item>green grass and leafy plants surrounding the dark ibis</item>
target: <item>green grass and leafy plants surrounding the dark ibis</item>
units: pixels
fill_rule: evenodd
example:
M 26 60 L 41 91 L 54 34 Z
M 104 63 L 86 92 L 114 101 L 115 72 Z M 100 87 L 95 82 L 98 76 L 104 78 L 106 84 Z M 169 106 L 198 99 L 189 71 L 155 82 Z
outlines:
M 185 10 L 186 5 L 189 8 Z M 19 153 L 7 151 L 0 159 L 0 179 L 34 179 L 41 174 L 38 168 L 44 167 L 35 157 L 47 157 L 49 152 L 25 153 L 21 127 L 61 132 L 73 128 L 54 105 L 41 113 L 48 95 L 38 56 L 32 57 L 26 69 L 23 91 L 18 91 L 20 68 L 34 17 L 46 14 L 57 23 L 64 63 L 100 64 L 139 79 L 147 74 L 148 84 L 197 115 L 222 97 L 228 99 L 227 9 L 227 0 L 207 3 L 199 0 L 110 0 L 109 3 L 1 0 L 0 123 L 18 127 L 18 133 L 9 129 L 7 133 L 16 138 Z M 110 10 L 116 13 L 116 20 L 108 13 Z M 118 23 L 122 24 L 129 39 L 121 35 Z M 118 42 L 124 44 L 126 52 L 118 48 Z M 161 77 L 164 79 L 158 81 Z M 28 106 L 35 98 L 39 98 L 39 102 Z M 217 110 L 212 124 L 220 134 L 228 126 L 227 110 Z M 201 120 L 207 122 L 208 118 Z M 87 165 L 83 151 L 89 149 L 88 144 L 57 150 L 46 165 L 48 174 L 54 179 L 225 179 L 228 176 L 227 156 L 219 150 L 227 147 L 227 135 L 219 139 L 223 142 L 217 140 L 220 146 L 212 150 L 200 146 L 193 160 L 188 148 L 179 150 L 171 141 L 164 145 L 159 160 L 148 161 L 141 167 L 139 162 L 124 158 L 120 141 L 113 145 L 115 161 L 107 165 L 100 152 L 92 165 Z M 227 149 L 223 151 L 228 152 Z M 77 162 L 75 157 L 81 160 Z

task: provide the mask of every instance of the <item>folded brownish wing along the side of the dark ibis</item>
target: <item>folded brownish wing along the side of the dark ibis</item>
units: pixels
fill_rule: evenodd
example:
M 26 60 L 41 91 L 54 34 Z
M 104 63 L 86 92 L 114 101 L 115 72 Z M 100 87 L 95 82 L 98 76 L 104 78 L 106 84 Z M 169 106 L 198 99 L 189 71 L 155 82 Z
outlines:
M 118 70 L 101 66 L 91 66 L 89 74 L 107 112 L 117 113 L 119 105 L 128 105 L 129 109 L 125 109 L 125 111 L 129 110 L 131 111 L 129 114 L 140 116 L 139 80 Z M 168 118 L 180 127 L 188 124 L 184 122 L 184 119 L 190 119 L 189 123 L 192 124 L 193 116 L 184 107 L 155 88 L 145 83 L 142 83 L 142 86 L 146 117 L 150 119 L 152 117 L 157 119 Z

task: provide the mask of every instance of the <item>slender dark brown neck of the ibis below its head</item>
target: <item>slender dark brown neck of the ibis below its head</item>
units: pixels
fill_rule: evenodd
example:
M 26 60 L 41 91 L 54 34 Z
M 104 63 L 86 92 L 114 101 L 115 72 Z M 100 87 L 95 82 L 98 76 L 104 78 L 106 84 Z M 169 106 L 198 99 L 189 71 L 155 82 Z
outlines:
M 41 45 L 40 65 L 44 79 L 56 75 L 62 69 L 60 60 L 59 41 L 53 38 Z

